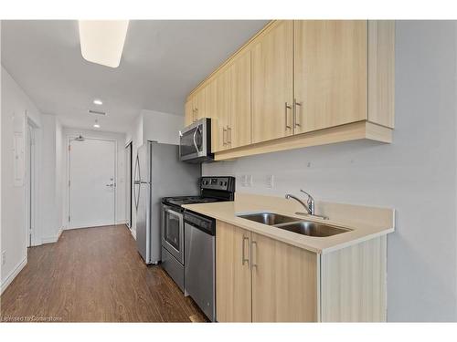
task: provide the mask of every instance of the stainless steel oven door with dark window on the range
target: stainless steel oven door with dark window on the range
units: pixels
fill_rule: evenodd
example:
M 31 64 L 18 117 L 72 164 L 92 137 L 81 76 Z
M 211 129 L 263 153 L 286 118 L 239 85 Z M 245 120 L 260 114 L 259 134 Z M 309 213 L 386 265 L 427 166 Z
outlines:
M 184 220 L 181 212 L 168 205 L 162 210 L 162 246 L 184 264 Z

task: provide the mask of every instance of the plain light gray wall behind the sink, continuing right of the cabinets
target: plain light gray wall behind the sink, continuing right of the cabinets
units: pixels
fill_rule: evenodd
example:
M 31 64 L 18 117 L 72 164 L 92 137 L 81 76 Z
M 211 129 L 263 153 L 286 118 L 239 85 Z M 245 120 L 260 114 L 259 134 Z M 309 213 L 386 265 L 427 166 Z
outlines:
M 395 208 L 389 321 L 457 320 L 456 43 L 455 22 L 397 23 L 392 144 L 347 142 L 203 167 L 207 175 L 237 176 L 239 192 L 283 195 L 303 187 L 319 200 Z M 241 186 L 245 174 L 252 187 Z

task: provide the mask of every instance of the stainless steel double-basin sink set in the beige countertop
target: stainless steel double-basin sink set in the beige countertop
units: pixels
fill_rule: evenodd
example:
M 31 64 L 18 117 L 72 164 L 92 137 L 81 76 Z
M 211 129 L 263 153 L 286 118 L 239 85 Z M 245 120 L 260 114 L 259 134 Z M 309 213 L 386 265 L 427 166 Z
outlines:
M 315 223 L 297 217 L 284 216 L 274 212 L 255 212 L 240 214 L 238 217 L 257 223 L 271 225 L 275 228 L 299 233 L 307 236 L 325 237 L 349 232 L 350 229 L 335 227 L 334 225 Z

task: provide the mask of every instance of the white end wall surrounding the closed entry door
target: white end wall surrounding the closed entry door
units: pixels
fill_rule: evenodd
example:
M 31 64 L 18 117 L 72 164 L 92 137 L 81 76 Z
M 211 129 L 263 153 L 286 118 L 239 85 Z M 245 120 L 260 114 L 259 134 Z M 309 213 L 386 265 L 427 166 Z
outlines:
M 63 225 L 65 228 L 68 228 L 68 201 L 69 201 L 69 193 L 68 193 L 68 144 L 69 144 L 69 137 L 76 137 L 82 135 L 86 138 L 96 138 L 96 139 L 108 139 L 108 140 L 116 140 L 117 142 L 117 167 L 116 167 L 116 223 L 121 224 L 125 223 L 125 201 L 126 201 L 126 194 L 125 194 L 125 134 L 124 133 L 112 133 L 112 132 L 105 132 L 100 130 L 77 130 L 77 129 L 63 129 L 63 141 L 62 141 L 62 150 L 63 150 L 63 157 L 62 157 L 62 174 L 63 174 L 63 205 L 62 205 L 62 212 L 63 212 Z

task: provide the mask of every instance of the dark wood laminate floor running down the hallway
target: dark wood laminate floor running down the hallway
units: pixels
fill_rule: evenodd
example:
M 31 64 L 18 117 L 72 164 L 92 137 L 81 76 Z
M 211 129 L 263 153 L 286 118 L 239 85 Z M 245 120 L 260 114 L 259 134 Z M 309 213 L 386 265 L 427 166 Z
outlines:
M 3 321 L 205 320 L 160 266 L 143 264 L 125 225 L 64 231 L 56 244 L 29 248 L 0 301 Z

